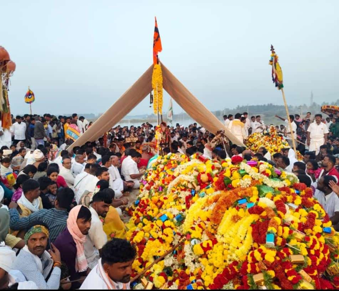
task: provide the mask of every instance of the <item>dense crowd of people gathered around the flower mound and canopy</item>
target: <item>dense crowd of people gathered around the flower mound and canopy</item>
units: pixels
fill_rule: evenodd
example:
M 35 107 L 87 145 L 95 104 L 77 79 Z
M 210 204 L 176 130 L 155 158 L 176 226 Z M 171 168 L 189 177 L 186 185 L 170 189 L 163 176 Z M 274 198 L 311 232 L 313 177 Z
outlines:
M 145 171 L 162 155 L 200 153 L 222 162 L 241 156 L 293 172 L 314 190 L 339 230 L 339 131 L 337 118 L 290 115 L 277 128 L 291 145 L 271 155 L 242 143 L 254 132 L 267 134 L 261 116 L 225 115 L 238 138 L 212 134 L 194 123 L 175 127 L 149 123 L 112 128 L 105 137 L 72 146 L 70 125 L 91 127 L 83 116 L 16 116 L 0 128 L 0 287 L 1 289 L 129 289 L 136 250 L 125 239 L 123 211 Z M 337 117 L 337 116 L 336 116 Z M 161 140 L 155 139 L 157 130 Z M 298 161 L 292 134 L 301 142 Z M 302 141 L 306 141 L 303 143 Z M 156 144 L 159 144 L 159 149 Z

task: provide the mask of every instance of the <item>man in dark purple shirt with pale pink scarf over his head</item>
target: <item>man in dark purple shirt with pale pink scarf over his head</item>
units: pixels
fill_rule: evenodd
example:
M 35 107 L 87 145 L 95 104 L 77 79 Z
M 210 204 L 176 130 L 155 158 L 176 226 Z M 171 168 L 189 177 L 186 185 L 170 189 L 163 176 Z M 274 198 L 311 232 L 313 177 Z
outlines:
M 91 271 L 85 257 L 84 243 L 91 228 L 92 213 L 86 206 L 76 206 L 68 215 L 67 227 L 54 242 L 61 254 L 61 260 L 66 264 L 70 280 L 85 279 Z M 72 284 L 72 289 L 78 289 L 80 282 Z

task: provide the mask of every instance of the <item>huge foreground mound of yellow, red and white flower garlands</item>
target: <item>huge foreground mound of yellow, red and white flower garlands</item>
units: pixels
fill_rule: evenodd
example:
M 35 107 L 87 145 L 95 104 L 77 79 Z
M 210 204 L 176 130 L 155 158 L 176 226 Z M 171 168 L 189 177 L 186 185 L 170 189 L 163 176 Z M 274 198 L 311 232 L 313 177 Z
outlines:
M 170 155 L 140 191 L 126 234 L 138 253 L 132 276 L 146 270 L 135 289 L 339 288 L 339 236 L 293 174 Z

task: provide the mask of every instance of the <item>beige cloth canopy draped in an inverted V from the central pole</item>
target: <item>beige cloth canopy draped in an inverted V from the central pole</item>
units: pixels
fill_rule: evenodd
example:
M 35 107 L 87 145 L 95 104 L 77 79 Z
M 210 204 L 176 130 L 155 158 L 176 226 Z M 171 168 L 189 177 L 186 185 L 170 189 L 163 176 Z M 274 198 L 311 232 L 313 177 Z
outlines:
M 245 146 L 198 98 L 194 97 L 175 78 L 165 65 L 161 64 L 161 68 L 164 89 L 191 118 L 197 121 L 203 128 L 215 134 L 218 130 L 223 129 L 225 135 L 233 144 Z M 88 141 L 95 141 L 130 113 L 152 91 L 152 72 L 153 65 L 68 150 L 74 146 L 82 146 Z

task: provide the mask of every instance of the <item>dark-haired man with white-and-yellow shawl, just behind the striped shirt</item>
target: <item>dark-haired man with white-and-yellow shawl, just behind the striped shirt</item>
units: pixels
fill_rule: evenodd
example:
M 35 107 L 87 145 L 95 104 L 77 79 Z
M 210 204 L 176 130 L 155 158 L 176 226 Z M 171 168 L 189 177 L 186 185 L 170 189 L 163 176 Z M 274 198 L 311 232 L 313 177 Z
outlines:
M 17 200 L 20 217 L 28 217 L 32 213 L 43 209 L 40 197 L 40 184 L 38 181 L 29 179 L 22 184 L 22 195 Z M 20 208 L 20 209 L 19 209 Z M 14 231 L 12 235 L 22 238 L 22 231 Z

